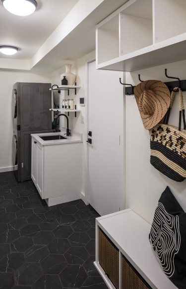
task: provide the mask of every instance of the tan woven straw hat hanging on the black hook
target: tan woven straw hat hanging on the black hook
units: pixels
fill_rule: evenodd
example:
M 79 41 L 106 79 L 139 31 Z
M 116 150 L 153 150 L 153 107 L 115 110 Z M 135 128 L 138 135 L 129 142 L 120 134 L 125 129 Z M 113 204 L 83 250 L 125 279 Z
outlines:
M 146 80 L 134 88 L 134 96 L 146 130 L 155 127 L 168 111 L 171 95 L 159 80 Z

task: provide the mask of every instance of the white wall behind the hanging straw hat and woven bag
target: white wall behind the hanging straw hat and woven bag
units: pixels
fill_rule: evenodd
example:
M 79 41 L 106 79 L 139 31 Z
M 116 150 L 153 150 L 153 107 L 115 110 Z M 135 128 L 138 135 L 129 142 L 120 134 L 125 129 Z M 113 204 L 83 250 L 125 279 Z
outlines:
M 141 80 L 157 79 L 174 81 L 165 76 L 186 79 L 186 60 L 167 65 L 126 73 L 126 83 L 137 85 Z M 183 93 L 186 107 L 186 92 Z M 146 221 L 152 223 L 161 193 L 168 185 L 186 211 L 186 180 L 179 183 L 166 177 L 150 164 L 149 133 L 144 129 L 134 96 L 125 96 L 126 101 L 126 207 L 130 207 Z M 179 97 L 176 96 L 169 124 L 178 126 Z

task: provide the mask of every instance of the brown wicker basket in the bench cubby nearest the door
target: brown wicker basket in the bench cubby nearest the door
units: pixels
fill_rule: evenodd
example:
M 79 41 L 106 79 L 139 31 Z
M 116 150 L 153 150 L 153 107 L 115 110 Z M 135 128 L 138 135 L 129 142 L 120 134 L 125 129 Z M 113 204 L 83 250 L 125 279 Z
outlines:
M 119 250 L 99 229 L 99 264 L 113 285 L 119 289 Z

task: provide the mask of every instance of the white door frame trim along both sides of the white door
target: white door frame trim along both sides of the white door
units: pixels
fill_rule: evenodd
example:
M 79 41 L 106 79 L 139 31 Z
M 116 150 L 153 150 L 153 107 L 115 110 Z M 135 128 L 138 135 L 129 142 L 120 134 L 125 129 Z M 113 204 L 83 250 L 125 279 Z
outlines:
M 87 140 L 88 136 L 88 129 L 89 129 L 89 81 L 88 81 L 88 73 L 89 73 L 89 64 L 93 61 L 96 61 L 95 56 L 90 56 L 89 58 L 86 59 L 86 126 L 85 126 L 85 138 Z M 123 79 L 121 81 L 124 83 L 125 81 L 125 73 L 123 73 Z M 125 95 L 124 95 L 124 102 L 123 102 L 123 109 L 125 108 Z M 120 142 L 121 142 L 121 147 L 120 147 L 120 210 L 125 209 L 125 196 L 126 196 L 126 168 L 125 168 L 125 109 L 123 112 L 123 136 L 121 136 Z M 85 204 L 89 204 L 89 148 L 85 140 L 85 195 L 81 194 L 82 200 L 85 202 Z

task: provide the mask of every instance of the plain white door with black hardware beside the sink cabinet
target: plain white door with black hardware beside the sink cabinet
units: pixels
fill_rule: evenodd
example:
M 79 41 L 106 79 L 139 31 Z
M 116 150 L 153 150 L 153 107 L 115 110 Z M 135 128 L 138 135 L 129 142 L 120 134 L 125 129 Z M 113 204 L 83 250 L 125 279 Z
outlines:
M 124 209 L 123 72 L 88 64 L 89 204 L 100 214 Z

